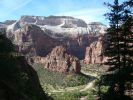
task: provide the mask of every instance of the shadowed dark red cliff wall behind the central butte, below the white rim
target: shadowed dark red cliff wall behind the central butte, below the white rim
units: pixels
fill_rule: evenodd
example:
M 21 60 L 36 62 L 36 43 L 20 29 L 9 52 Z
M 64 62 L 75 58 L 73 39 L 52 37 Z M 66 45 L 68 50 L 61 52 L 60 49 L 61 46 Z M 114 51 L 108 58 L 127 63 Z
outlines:
M 24 25 L 20 27 L 19 23 L 10 26 L 7 37 L 18 46 L 19 52 L 30 56 L 44 57 L 58 45 L 65 46 L 67 52 L 79 59 L 84 59 L 85 49 L 90 43 L 97 40 L 96 36 L 83 34 L 77 37 L 52 38 L 48 33 L 36 25 Z

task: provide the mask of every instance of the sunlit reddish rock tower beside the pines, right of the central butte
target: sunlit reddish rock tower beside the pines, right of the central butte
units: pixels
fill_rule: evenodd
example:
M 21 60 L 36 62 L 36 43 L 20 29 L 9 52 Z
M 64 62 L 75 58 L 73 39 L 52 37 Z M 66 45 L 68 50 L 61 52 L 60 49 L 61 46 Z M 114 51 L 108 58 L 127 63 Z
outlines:
M 101 64 L 106 61 L 106 57 L 103 56 L 106 45 L 104 37 L 99 37 L 98 41 L 93 42 L 89 47 L 86 48 L 86 54 L 84 62 L 86 64 Z

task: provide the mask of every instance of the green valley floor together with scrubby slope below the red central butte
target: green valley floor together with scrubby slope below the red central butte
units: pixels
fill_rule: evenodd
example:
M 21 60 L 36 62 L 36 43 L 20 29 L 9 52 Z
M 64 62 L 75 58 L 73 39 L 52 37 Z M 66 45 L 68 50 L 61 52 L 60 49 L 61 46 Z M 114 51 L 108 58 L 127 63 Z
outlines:
M 89 73 L 90 67 L 92 67 L 91 69 L 93 69 L 94 67 L 94 70 L 97 70 L 98 72 L 98 67 L 101 68 L 101 65 L 84 65 L 83 69 L 88 69 L 84 71 L 86 71 L 86 73 Z M 81 98 L 84 98 L 85 100 L 95 100 L 97 97 L 98 82 L 94 82 L 94 86 L 85 89 L 88 83 L 95 79 L 94 77 L 90 77 L 89 75 L 89 77 L 87 77 L 82 74 L 63 74 L 53 72 L 44 69 L 41 64 L 34 64 L 33 68 L 38 73 L 43 89 L 54 100 L 80 100 Z M 102 87 L 103 93 L 106 92 L 107 89 L 107 87 Z

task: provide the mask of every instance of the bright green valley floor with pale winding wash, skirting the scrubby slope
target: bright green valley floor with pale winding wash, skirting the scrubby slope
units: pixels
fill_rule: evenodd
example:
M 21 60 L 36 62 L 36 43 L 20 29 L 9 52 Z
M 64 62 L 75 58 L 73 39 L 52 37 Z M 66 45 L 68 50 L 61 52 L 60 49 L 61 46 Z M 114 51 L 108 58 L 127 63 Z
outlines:
M 73 87 L 61 87 L 57 85 L 54 87 L 50 84 L 42 84 L 42 88 L 46 93 L 53 97 L 54 100 L 95 100 L 96 89 L 94 85 L 100 74 L 103 72 L 103 70 L 101 70 L 102 68 L 100 68 L 99 66 L 100 65 L 84 65 L 81 68 L 81 73 L 83 75 L 87 76 L 88 78 L 91 77 L 90 81 L 88 81 L 88 83 L 84 85 L 78 85 Z M 37 72 L 38 71 L 39 73 L 41 73 L 41 75 L 43 74 L 39 69 L 37 69 Z M 42 77 L 40 79 L 42 80 Z

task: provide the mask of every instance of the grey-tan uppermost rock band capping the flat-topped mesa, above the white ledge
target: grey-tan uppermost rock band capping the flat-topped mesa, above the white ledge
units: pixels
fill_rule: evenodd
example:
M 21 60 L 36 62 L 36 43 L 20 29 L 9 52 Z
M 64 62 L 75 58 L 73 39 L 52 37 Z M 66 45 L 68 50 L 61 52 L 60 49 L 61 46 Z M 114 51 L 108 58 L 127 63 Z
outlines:
M 70 16 L 22 16 L 20 19 L 22 24 L 31 23 L 36 25 L 50 25 L 50 26 L 57 26 L 64 23 L 63 27 L 87 27 L 87 24 L 80 19 L 76 19 Z

